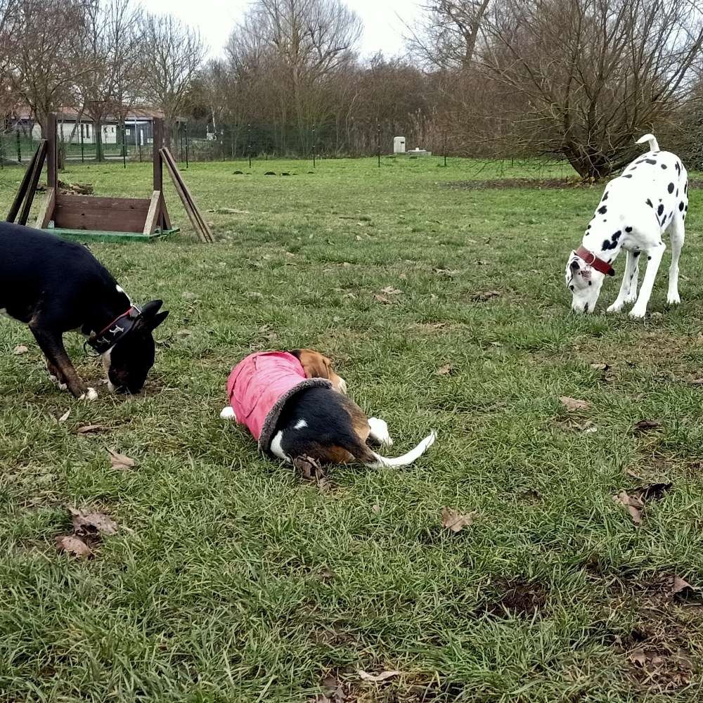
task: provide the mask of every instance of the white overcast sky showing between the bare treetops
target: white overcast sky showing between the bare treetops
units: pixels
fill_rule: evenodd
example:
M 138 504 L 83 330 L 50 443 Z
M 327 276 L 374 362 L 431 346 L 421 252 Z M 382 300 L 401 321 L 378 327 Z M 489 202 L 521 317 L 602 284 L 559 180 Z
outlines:
M 171 13 L 198 27 L 210 47 L 210 56 L 220 56 L 232 27 L 249 6 L 250 0 L 145 0 L 143 6 L 154 13 Z M 420 14 L 416 0 L 347 0 L 347 6 L 363 20 L 361 53 L 369 56 L 381 49 L 394 56 L 404 49 L 402 18 L 412 24 Z

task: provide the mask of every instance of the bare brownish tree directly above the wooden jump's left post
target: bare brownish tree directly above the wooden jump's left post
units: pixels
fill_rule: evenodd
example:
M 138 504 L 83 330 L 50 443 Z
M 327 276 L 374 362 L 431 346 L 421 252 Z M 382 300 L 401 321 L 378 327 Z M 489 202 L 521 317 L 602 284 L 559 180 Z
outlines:
M 12 11 L 8 77 L 15 95 L 41 124 L 92 70 L 82 52 L 86 4 L 82 0 L 18 0 Z

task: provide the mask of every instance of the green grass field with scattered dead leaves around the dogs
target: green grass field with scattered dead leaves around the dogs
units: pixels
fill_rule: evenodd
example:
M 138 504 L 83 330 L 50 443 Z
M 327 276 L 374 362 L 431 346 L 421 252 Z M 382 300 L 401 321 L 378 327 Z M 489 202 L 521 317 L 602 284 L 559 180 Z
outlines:
M 602 313 L 613 281 L 598 314 L 569 314 L 563 268 L 601 186 L 477 182 L 563 167 L 249 170 L 185 174 L 203 210 L 236 211 L 206 213 L 214 245 L 172 191 L 181 235 L 91 245 L 134 299 L 171 311 L 142 396 L 61 394 L 29 330 L 0 320 L 0 701 L 699 699 L 703 607 L 673 593 L 674 576 L 703 586 L 699 191 L 683 304 L 666 308 L 667 254 L 632 321 Z M 0 173 L 3 209 L 20 175 Z M 150 167 L 62 179 L 146 196 Z M 437 443 L 405 470 L 333 467 L 327 486 L 259 458 L 219 420 L 226 376 L 301 346 L 387 420 L 389 453 L 431 427 Z M 113 469 L 106 448 L 136 466 Z M 619 491 L 645 501 L 639 527 Z M 56 551 L 69 507 L 119 526 L 91 560 Z M 442 527 L 443 508 L 471 524 Z

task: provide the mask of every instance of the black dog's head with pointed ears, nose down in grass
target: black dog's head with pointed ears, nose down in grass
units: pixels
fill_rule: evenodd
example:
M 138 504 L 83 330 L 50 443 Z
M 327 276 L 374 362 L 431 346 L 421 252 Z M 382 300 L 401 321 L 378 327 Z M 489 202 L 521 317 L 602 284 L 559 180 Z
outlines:
M 159 312 L 162 300 L 152 300 L 141 309 L 141 316 L 129 332 L 120 337 L 109 352 L 103 354 L 108 373 L 108 387 L 117 393 L 141 391 L 149 369 L 154 365 L 155 344 L 152 336 L 168 316 Z

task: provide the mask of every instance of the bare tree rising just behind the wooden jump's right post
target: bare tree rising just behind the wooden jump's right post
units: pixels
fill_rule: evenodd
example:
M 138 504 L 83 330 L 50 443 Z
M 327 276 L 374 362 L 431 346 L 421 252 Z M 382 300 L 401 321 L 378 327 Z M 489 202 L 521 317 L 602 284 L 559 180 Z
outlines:
M 200 34 L 172 15 L 146 15 L 143 61 L 146 93 L 164 113 L 170 142 L 188 90 L 205 59 Z

